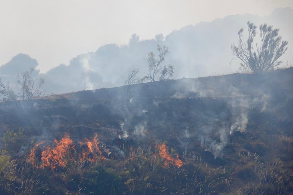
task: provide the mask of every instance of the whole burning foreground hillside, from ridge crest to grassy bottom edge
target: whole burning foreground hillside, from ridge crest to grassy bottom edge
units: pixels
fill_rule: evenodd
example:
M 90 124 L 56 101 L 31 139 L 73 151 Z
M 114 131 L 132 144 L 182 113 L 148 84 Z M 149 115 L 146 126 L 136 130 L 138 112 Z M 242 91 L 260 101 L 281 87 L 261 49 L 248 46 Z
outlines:
M 293 194 L 293 68 L 142 83 L 131 94 L 0 103 L 1 137 L 23 129 L 27 141 L 0 191 Z

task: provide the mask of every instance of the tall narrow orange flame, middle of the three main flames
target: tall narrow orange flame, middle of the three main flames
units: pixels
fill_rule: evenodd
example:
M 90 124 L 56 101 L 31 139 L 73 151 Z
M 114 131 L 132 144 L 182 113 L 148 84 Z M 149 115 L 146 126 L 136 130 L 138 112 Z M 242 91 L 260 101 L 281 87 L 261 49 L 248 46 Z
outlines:
M 98 160 L 98 155 L 100 155 L 100 159 L 105 160 L 106 158 L 103 156 L 102 151 L 99 148 L 98 134 L 95 133 L 95 136 L 92 140 L 87 138 L 84 141 L 80 142 L 80 145 L 86 145 L 88 150 L 82 152 L 82 157 L 80 161 L 88 160 L 90 162 L 95 162 Z

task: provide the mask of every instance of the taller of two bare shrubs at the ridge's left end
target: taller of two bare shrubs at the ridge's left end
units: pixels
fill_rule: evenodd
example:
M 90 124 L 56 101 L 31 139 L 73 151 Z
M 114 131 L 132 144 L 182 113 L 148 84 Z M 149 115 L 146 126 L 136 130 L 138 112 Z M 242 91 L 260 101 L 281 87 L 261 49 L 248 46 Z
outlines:
M 33 96 L 42 97 L 45 95 L 45 92 L 41 91 L 40 88 L 43 84 L 45 84 L 44 79 L 40 78 L 37 83 L 37 79 L 33 79 L 31 76 L 33 72 L 33 68 L 30 71 L 26 71 L 24 73 L 18 74 L 17 83 L 21 86 L 21 92 L 19 97 L 22 100 L 30 100 Z

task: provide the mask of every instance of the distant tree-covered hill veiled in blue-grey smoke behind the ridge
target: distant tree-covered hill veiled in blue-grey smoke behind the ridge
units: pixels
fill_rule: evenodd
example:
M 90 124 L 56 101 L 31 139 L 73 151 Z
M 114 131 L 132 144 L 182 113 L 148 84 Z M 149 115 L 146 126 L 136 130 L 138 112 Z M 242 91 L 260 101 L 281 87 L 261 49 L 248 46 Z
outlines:
M 240 61 L 234 60 L 229 64 L 233 58 L 230 45 L 237 41 L 237 32 L 241 27 L 246 30 L 248 20 L 258 26 L 268 23 L 280 28 L 283 39 L 289 41 L 282 61 L 292 62 L 293 22 L 290 18 L 293 18 L 291 8 L 279 8 L 264 17 L 251 14 L 229 15 L 212 22 L 201 22 L 174 30 L 166 37 L 157 34 L 150 40 L 141 40 L 139 34 L 133 34 L 127 45 L 101 46 L 95 52 L 76 56 L 69 64 L 60 64 L 45 74 L 36 71 L 35 76 L 45 79 L 44 89 L 47 93 L 121 86 L 127 73 L 133 68 L 139 68 L 138 76 L 143 77 L 147 71 L 144 58 L 149 51 L 157 54 L 157 44 L 169 47 L 170 53 L 164 64 L 174 65 L 174 79 L 233 73 L 239 68 Z M 12 84 L 17 80 L 17 72 L 36 68 L 37 61 L 38 59 L 25 54 L 18 54 L 0 67 L 2 80 L 9 80 Z

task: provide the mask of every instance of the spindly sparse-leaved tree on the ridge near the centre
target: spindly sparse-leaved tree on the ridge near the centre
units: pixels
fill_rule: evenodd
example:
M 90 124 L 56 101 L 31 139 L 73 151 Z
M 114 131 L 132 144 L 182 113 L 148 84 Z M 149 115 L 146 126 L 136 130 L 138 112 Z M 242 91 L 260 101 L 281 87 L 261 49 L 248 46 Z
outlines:
M 155 82 L 156 78 L 163 80 L 166 77 L 170 77 L 173 75 L 173 66 L 169 65 L 168 68 L 166 68 L 166 66 L 164 66 L 164 68 L 166 68 L 165 70 L 161 67 L 161 63 L 163 61 L 165 61 L 165 56 L 169 52 L 168 47 L 166 47 L 166 46 L 161 47 L 158 45 L 157 49 L 159 51 L 159 59 L 155 58 L 154 52 L 152 52 L 152 51 L 149 52 L 148 58 L 146 59 L 148 72 L 147 72 L 147 76 L 142 78 L 142 81 L 149 80 L 151 82 Z M 163 76 L 162 76 L 162 73 L 164 74 Z M 170 75 L 170 73 L 171 73 L 171 75 Z M 160 75 L 158 76 L 158 74 L 160 74 Z

